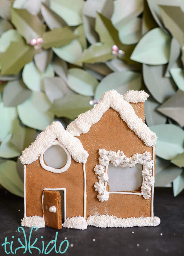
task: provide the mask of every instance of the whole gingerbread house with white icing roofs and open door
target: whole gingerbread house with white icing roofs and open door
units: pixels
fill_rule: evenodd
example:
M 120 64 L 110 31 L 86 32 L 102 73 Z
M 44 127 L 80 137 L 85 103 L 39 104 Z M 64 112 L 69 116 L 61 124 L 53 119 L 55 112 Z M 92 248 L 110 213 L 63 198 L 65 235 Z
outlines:
M 144 123 L 144 91 L 112 90 L 67 129 L 53 122 L 22 152 L 24 226 L 156 226 L 157 136 Z

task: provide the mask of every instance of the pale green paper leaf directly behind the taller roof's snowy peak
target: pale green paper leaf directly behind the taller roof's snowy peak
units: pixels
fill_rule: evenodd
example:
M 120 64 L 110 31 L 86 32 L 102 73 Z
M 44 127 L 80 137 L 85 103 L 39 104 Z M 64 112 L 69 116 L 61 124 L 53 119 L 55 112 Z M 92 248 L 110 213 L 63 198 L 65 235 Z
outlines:
M 102 79 L 95 91 L 95 99 L 98 100 L 106 91 L 115 89 L 121 94 L 129 90 L 140 90 L 142 86 L 141 75 L 133 71 L 113 72 Z

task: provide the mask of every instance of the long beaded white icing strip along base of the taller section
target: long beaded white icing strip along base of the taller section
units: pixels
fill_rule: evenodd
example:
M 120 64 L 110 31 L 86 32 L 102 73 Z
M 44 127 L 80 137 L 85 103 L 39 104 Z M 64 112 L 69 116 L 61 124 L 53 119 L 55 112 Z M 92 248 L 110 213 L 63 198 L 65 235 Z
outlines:
M 113 215 L 93 215 L 87 218 L 88 226 L 98 228 L 127 228 L 133 226 L 158 226 L 160 224 L 159 217 L 139 217 L 139 218 L 117 218 Z

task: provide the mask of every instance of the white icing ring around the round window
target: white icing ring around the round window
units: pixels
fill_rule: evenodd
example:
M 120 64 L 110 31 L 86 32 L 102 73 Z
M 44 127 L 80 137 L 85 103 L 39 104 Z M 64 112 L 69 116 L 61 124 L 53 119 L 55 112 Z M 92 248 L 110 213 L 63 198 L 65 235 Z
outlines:
M 53 167 L 51 167 L 51 166 L 48 166 L 48 165 L 46 165 L 46 164 L 44 163 L 44 153 L 45 153 L 45 151 L 46 151 L 48 148 L 50 148 L 50 147 L 53 146 L 53 145 L 59 145 L 61 148 L 64 149 L 65 153 L 67 154 L 67 162 L 66 162 L 66 164 L 65 164 L 63 167 L 59 168 L 59 169 L 55 169 L 55 168 L 53 168 Z M 52 173 L 63 173 L 63 172 L 65 172 L 65 171 L 67 171 L 67 170 L 69 169 L 69 167 L 70 167 L 71 162 L 72 162 L 72 158 L 71 158 L 69 152 L 68 152 L 67 149 L 66 149 L 59 141 L 57 141 L 57 140 L 54 141 L 54 142 L 52 142 L 52 143 L 49 144 L 48 146 L 46 146 L 46 147 L 42 150 L 42 152 L 41 152 L 41 154 L 40 154 L 40 164 L 41 164 L 41 166 L 42 166 L 45 170 L 50 171 L 50 172 L 52 172 Z

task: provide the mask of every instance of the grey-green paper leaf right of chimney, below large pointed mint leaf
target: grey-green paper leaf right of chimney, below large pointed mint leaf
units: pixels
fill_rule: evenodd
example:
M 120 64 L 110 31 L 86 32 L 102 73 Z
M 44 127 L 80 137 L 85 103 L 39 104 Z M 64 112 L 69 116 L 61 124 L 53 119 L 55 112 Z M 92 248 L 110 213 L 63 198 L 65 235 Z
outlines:
M 174 95 L 176 85 L 172 78 L 164 77 L 166 65 L 151 66 L 143 64 L 143 78 L 147 89 L 159 103 Z

